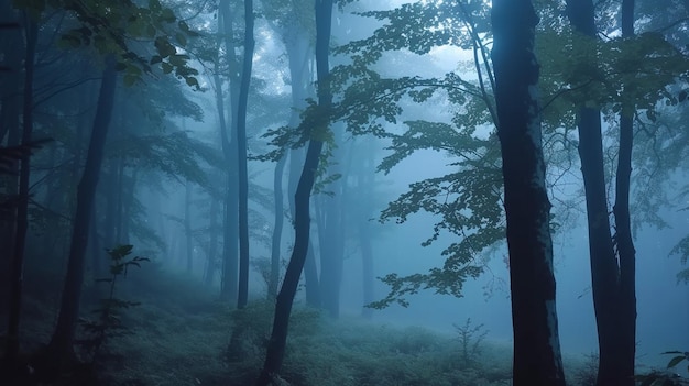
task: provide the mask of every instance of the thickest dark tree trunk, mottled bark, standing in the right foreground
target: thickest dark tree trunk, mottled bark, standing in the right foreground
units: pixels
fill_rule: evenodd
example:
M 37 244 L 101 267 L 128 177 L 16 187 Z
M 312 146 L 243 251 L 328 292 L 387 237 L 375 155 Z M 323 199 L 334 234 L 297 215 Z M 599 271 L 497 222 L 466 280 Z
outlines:
M 513 385 L 564 386 L 529 0 L 495 0 L 493 66 L 507 219 Z

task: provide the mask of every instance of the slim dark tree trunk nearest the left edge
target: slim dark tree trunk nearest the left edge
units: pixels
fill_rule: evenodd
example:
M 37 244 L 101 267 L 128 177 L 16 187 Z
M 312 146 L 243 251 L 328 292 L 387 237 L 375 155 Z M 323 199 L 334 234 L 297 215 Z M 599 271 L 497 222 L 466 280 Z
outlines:
M 29 19 L 29 18 L 26 18 Z M 24 100 L 22 144 L 29 145 L 33 133 L 33 81 L 35 69 L 36 40 L 39 26 L 33 21 L 26 22 L 26 47 L 24 57 Z M 17 205 L 17 225 L 14 227 L 14 247 L 11 262 L 11 296 L 8 317 L 6 357 L 12 365 L 19 354 L 19 322 L 22 306 L 24 250 L 29 228 L 29 176 L 31 173 L 30 154 L 24 153 L 19 174 L 19 200 Z

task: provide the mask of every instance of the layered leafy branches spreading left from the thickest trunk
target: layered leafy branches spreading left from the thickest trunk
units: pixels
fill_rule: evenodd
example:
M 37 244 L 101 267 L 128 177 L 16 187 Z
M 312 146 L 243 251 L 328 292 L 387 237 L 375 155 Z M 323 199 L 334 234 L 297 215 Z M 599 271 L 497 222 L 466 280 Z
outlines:
M 364 12 L 362 15 L 384 20 L 385 24 L 371 37 L 336 49 L 351 57 L 350 64 L 332 71 L 335 89 L 340 92 L 336 115 L 357 134 L 372 133 L 391 141 L 391 154 L 379 170 L 390 172 L 419 150 L 442 152 L 457 159 L 449 165 L 457 172 L 412 184 L 381 214 L 382 221 L 394 219 L 398 223 L 419 211 L 436 216 L 439 220 L 423 245 L 430 245 L 444 232 L 456 235 L 457 242 L 442 251 L 444 266 L 406 277 L 386 275 L 382 280 L 390 286 L 390 293 L 371 307 L 392 302 L 406 306 L 406 295 L 427 288 L 461 296 L 464 280 L 482 272 L 480 254 L 503 239 L 500 153 L 490 133 L 495 119 L 485 49 L 490 38 L 488 14 L 482 3 L 440 1 Z M 440 78 L 386 78 L 375 70 L 384 63 L 386 52 L 424 55 L 442 45 L 472 49 L 479 79 L 466 80 L 458 73 Z M 449 122 L 416 119 L 404 121 L 401 134 L 389 129 L 406 114 L 406 107 L 434 100 L 441 100 L 452 112 Z

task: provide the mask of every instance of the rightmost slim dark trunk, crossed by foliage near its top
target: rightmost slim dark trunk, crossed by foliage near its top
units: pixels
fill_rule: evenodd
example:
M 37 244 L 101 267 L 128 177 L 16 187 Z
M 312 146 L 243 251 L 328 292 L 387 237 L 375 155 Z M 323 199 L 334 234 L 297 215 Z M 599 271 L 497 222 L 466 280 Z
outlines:
M 634 0 L 622 1 L 622 36 L 634 36 Z M 620 377 L 599 381 L 599 386 L 634 386 L 634 359 L 636 355 L 636 251 L 632 239 L 630 218 L 630 179 L 632 174 L 632 147 L 634 144 L 634 106 L 625 104 L 620 114 L 620 152 L 617 153 L 617 174 L 615 181 L 615 241 L 620 257 L 620 288 L 616 312 L 620 342 Z M 619 381 L 617 381 L 619 379 Z

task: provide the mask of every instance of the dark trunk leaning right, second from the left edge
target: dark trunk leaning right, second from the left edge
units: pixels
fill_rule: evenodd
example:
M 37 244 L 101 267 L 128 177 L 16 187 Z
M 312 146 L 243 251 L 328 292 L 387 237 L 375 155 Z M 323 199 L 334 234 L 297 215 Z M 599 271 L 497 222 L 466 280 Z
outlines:
M 69 262 L 62 294 L 57 326 L 47 348 L 47 366 L 57 371 L 74 356 L 74 334 L 79 316 L 79 300 L 84 282 L 84 257 L 88 241 L 90 212 L 100 175 L 103 147 L 114 102 L 117 73 L 114 59 L 106 58 L 106 69 L 98 95 L 94 129 L 89 141 L 86 165 L 77 187 L 77 208 L 69 245 Z

